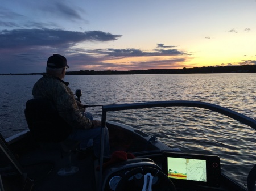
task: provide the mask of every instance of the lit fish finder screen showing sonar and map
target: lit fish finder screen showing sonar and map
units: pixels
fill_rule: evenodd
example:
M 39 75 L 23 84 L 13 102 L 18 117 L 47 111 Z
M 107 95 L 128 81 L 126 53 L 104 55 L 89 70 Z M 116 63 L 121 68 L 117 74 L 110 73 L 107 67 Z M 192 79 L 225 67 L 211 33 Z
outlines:
M 206 160 L 168 157 L 167 169 L 172 179 L 207 181 Z

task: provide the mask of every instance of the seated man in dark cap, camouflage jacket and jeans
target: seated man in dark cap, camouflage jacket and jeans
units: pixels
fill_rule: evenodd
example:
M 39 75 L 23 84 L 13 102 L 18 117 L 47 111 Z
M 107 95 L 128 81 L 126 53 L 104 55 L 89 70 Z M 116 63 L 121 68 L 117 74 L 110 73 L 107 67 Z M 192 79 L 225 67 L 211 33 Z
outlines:
M 72 133 L 68 139 L 81 141 L 80 149 L 87 147 L 88 141 L 93 139 L 94 154 L 100 154 L 101 121 L 91 120 L 84 116 L 68 82 L 64 82 L 66 70 L 69 68 L 67 60 L 60 54 L 53 54 L 48 58 L 46 73 L 35 83 L 32 95 L 34 98 L 44 97 L 52 101 L 59 115 L 71 128 Z M 109 154 L 108 128 L 104 128 L 104 155 Z

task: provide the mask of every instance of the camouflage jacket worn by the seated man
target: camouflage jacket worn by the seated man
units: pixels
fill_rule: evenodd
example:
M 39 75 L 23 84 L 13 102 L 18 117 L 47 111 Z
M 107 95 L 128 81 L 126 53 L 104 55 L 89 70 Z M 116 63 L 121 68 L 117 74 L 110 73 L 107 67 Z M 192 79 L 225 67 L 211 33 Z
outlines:
M 75 96 L 68 84 L 50 74 L 44 74 L 35 83 L 32 95 L 34 98 L 45 97 L 51 100 L 60 116 L 72 128 L 89 129 L 92 127 L 92 121 L 82 115 L 78 109 Z

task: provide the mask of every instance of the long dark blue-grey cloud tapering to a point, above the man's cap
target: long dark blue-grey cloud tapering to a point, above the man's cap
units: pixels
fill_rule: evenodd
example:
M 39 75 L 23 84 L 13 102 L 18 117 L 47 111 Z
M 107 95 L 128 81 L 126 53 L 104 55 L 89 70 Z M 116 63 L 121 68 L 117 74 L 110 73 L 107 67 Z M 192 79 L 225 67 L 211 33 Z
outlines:
M 0 48 L 22 46 L 70 47 L 83 41 L 117 40 L 122 35 L 102 31 L 74 32 L 60 29 L 14 29 L 0 31 Z

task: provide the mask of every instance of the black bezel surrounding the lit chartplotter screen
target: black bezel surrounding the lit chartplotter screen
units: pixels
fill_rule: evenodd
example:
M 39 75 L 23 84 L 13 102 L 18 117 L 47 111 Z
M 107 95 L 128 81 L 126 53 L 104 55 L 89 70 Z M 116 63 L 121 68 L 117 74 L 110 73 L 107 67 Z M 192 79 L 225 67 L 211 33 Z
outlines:
M 185 159 L 199 159 L 206 161 L 206 173 L 207 181 L 195 181 L 195 180 L 184 180 L 170 178 L 175 185 L 201 185 L 201 186 L 220 186 L 220 158 L 215 155 L 199 155 L 199 154 L 188 154 L 179 152 L 163 152 L 162 171 L 168 176 L 168 157 L 172 158 L 185 158 Z M 214 163 L 214 167 L 213 167 Z M 217 165 L 217 167 L 216 167 Z

